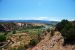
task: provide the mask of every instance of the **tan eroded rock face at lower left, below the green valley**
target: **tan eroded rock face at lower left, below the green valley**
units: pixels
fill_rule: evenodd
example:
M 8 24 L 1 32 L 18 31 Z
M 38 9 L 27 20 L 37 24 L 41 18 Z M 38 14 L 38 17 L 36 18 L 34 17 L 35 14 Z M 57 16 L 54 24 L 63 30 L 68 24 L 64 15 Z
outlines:
M 20 46 L 25 46 L 29 44 L 31 38 L 29 37 L 28 34 L 26 33 L 18 33 L 18 34 L 13 34 L 8 37 L 10 39 L 10 44 L 7 47 L 7 50 L 10 50 L 11 48 L 16 48 Z M 4 49 L 3 49 L 4 50 Z

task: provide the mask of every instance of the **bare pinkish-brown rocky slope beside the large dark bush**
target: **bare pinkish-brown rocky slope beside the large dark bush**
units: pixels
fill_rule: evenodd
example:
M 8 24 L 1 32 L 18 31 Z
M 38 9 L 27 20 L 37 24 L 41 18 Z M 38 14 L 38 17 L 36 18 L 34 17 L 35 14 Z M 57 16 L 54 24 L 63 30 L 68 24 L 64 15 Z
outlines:
M 49 39 L 50 38 L 50 39 Z M 37 46 L 31 50 L 74 50 L 75 46 L 63 46 L 64 38 L 58 31 L 54 32 L 54 36 L 50 37 L 49 34 Z M 73 48 L 73 49 L 72 49 Z M 28 49 L 30 50 L 30 49 Z

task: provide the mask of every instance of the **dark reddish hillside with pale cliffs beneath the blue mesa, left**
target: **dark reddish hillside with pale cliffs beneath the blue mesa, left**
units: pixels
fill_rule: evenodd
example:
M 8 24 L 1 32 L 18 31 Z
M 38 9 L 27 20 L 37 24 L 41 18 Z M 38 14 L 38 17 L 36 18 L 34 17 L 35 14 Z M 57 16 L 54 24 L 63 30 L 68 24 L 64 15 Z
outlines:
M 43 27 L 46 24 L 27 23 L 27 22 L 0 22 L 0 31 L 21 30 L 32 27 Z

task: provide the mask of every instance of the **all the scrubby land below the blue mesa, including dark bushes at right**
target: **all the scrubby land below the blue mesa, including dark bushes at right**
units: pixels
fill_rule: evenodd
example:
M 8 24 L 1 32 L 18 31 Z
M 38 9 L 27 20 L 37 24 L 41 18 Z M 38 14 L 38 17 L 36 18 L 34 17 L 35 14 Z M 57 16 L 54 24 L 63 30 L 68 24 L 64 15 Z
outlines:
M 56 26 L 1 22 L 0 31 L 2 30 L 5 30 L 0 32 L 2 50 L 75 50 L 75 21 L 62 20 Z

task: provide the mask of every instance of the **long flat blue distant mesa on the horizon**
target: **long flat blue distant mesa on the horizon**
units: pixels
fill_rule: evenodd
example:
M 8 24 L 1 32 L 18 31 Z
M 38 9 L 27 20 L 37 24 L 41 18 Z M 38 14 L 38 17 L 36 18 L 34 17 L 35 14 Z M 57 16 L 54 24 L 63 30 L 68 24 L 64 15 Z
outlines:
M 47 20 L 0 20 L 0 22 L 29 22 L 29 23 L 43 23 L 43 24 L 57 24 L 59 21 Z

